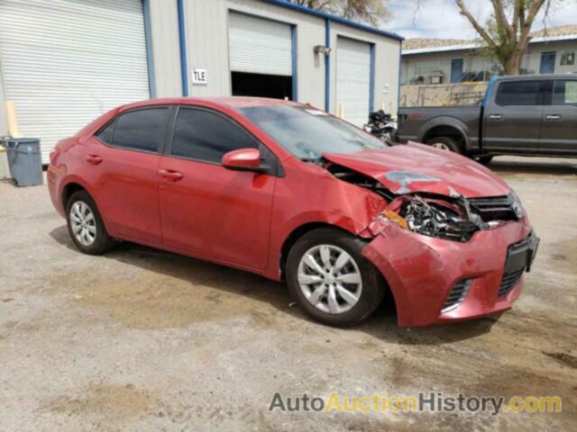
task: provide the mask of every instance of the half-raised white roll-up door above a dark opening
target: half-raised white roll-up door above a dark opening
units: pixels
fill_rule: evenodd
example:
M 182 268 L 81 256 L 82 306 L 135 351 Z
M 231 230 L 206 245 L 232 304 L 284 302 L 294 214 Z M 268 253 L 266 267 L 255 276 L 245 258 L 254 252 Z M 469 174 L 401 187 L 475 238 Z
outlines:
M 234 72 L 292 75 L 292 31 L 289 24 L 231 13 L 229 51 Z

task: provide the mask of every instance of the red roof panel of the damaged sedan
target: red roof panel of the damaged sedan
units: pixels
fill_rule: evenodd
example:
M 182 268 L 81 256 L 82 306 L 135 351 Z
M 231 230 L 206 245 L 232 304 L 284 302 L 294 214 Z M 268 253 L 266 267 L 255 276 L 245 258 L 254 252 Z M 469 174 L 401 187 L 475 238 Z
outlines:
M 212 105 L 220 108 L 238 109 L 253 106 L 298 106 L 300 103 L 283 100 L 270 99 L 266 97 L 245 97 L 245 96 L 218 96 L 218 97 L 170 97 L 159 99 L 148 99 L 135 103 L 127 103 L 118 107 L 118 112 L 132 110 L 151 105 Z

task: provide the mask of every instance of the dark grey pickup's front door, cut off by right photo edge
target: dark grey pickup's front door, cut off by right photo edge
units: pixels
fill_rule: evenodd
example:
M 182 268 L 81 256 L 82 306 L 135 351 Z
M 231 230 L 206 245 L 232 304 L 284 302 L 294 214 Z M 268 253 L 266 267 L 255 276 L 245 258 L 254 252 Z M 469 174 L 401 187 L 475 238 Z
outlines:
M 555 79 L 550 100 L 543 111 L 539 149 L 577 155 L 577 79 Z

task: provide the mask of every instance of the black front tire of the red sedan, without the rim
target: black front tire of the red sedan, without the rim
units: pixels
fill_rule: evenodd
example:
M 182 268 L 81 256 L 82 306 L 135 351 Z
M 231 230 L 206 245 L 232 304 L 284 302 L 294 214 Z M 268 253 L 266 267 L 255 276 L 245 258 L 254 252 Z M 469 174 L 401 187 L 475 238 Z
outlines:
M 358 266 L 362 278 L 362 291 L 358 302 L 349 311 L 337 314 L 320 311 L 311 302 L 308 302 L 305 294 L 300 289 L 298 284 L 298 266 L 301 258 L 311 247 L 318 245 L 340 247 L 353 257 Z M 313 229 L 298 238 L 298 241 L 290 249 L 286 266 L 289 291 L 300 307 L 314 320 L 329 326 L 349 327 L 365 320 L 379 307 L 385 294 L 385 284 L 379 271 L 372 266 L 369 260 L 362 257 L 361 251 L 364 246 L 365 242 L 360 238 L 355 238 L 341 229 L 319 228 Z

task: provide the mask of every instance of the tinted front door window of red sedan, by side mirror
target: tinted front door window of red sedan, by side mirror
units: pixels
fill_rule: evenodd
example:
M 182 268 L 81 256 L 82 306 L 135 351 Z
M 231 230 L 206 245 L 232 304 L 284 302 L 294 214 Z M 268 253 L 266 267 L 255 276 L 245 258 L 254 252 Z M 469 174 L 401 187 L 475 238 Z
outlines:
M 259 142 L 232 119 L 216 112 L 180 108 L 172 139 L 172 154 L 220 163 L 224 153 L 259 148 Z

